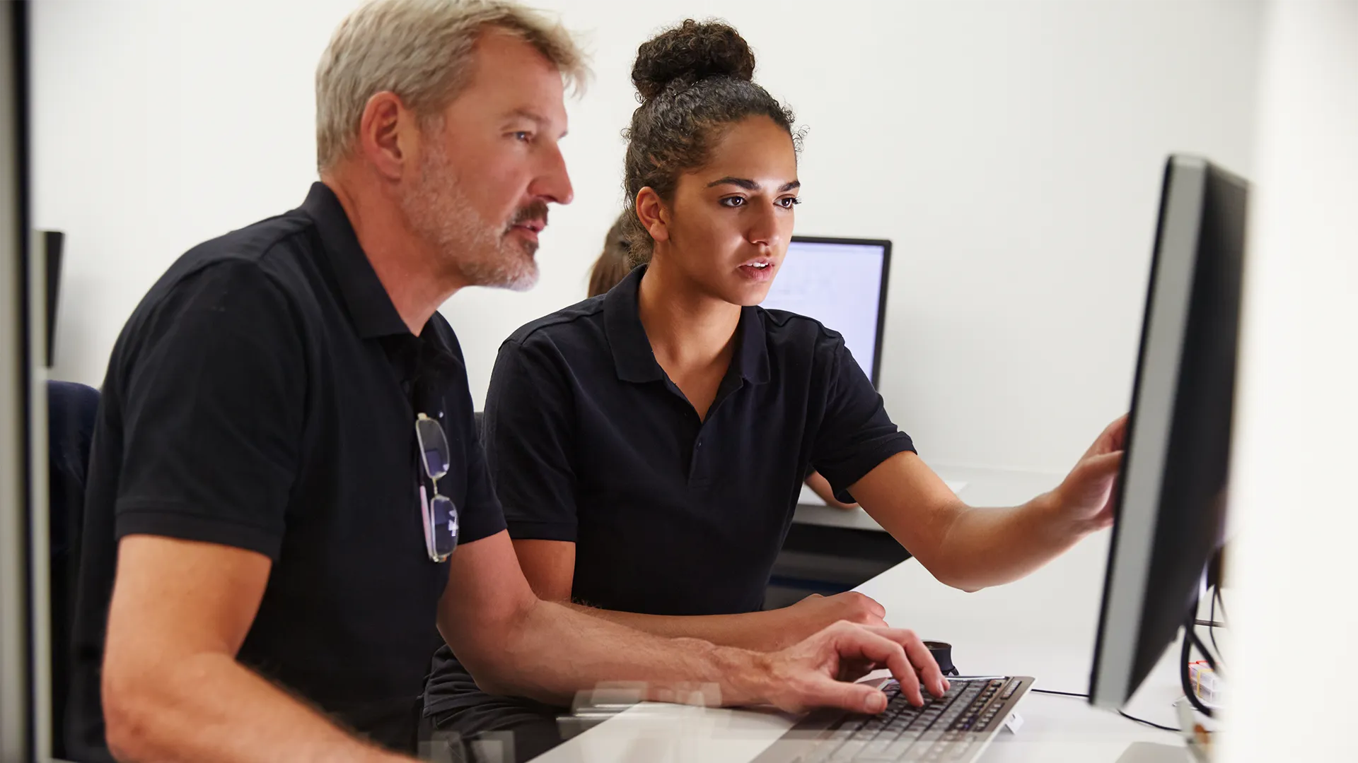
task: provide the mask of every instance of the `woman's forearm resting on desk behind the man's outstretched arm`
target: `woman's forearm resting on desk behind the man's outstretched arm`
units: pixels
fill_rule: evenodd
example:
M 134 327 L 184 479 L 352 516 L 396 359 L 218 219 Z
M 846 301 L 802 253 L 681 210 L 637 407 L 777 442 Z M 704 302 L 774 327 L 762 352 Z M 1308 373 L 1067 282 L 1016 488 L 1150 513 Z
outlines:
M 669 616 L 599 610 L 574 603 L 568 604 L 568 607 L 585 615 L 665 638 L 701 638 L 721 646 L 737 646 L 755 652 L 777 652 L 811 635 L 811 633 L 790 629 L 789 618 L 785 616 L 784 610 L 736 615 Z

